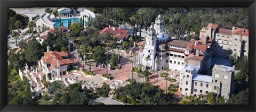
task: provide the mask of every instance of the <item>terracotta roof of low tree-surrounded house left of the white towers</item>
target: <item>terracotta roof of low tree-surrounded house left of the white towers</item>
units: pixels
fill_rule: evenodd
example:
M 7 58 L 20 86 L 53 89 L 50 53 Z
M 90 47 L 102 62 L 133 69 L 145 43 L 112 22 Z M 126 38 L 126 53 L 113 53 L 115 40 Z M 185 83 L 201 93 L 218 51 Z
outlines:
M 115 28 L 115 30 L 113 30 L 114 27 L 106 27 L 103 30 L 100 30 L 100 35 L 104 35 L 105 33 L 109 33 L 112 36 L 116 36 L 118 39 L 124 39 L 125 37 L 129 37 L 128 30 L 123 30 L 123 29 L 119 29 L 119 28 Z

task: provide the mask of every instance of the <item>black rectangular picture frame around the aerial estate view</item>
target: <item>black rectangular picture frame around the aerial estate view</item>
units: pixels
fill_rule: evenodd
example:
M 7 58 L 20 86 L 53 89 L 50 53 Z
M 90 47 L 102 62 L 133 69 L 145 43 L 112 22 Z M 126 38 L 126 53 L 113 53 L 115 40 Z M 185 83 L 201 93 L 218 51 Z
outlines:
M 249 7 L 249 105 L 7 105 L 7 7 Z M 2 0 L 0 1 L 2 111 L 255 111 L 255 0 Z

